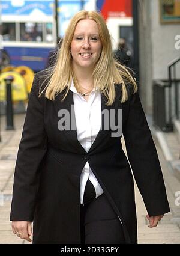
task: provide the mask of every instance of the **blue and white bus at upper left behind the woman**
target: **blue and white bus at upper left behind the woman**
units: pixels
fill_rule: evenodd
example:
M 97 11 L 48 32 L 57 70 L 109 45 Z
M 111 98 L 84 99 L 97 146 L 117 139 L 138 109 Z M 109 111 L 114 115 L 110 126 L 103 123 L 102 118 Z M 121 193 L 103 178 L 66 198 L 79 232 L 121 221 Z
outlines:
M 58 0 L 58 35 L 55 0 L 1 0 L 3 61 L 28 66 L 35 72 L 47 66 L 49 51 L 63 37 L 71 17 L 81 10 L 95 10 L 95 0 Z

